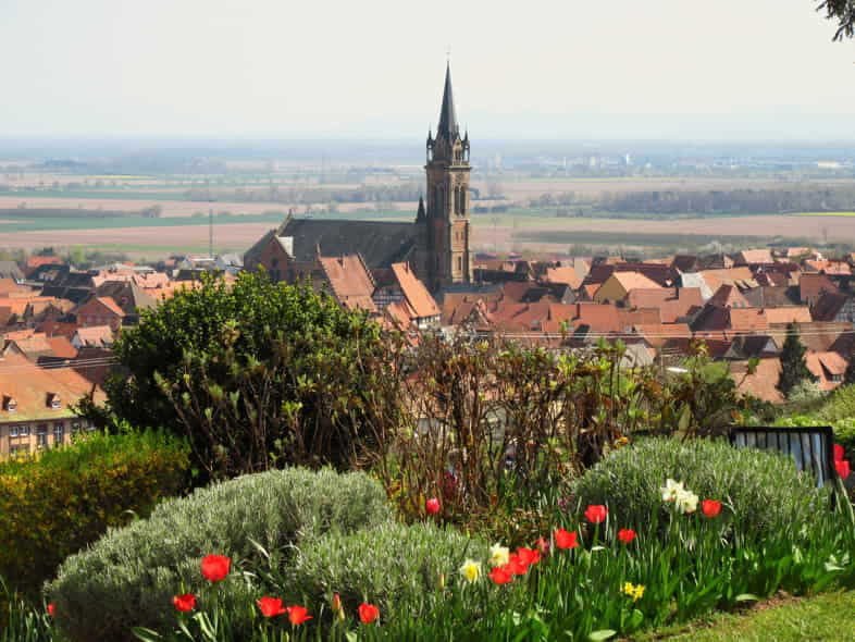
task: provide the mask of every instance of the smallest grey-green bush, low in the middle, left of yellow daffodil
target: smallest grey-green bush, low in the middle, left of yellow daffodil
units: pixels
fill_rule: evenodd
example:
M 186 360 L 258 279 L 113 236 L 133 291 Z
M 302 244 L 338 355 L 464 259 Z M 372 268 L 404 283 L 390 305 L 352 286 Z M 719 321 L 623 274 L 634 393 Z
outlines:
M 338 593 L 350 613 L 362 602 L 379 604 L 389 613 L 396 605 L 423 604 L 441 573 L 451 582 L 464 559 L 486 557 L 485 543 L 459 531 L 430 523 L 388 522 L 306 542 L 293 568 L 284 573 L 282 590 L 311 604 L 329 602 Z

